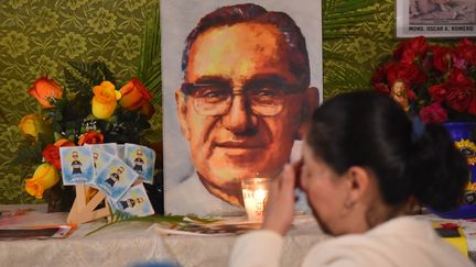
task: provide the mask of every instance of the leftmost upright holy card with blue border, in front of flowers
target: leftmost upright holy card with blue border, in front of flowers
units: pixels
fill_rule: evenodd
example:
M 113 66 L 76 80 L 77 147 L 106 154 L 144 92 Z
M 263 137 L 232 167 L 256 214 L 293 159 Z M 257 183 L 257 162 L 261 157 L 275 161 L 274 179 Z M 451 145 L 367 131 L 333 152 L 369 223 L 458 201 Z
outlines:
M 90 183 L 94 178 L 93 155 L 89 147 L 60 147 L 63 183 Z

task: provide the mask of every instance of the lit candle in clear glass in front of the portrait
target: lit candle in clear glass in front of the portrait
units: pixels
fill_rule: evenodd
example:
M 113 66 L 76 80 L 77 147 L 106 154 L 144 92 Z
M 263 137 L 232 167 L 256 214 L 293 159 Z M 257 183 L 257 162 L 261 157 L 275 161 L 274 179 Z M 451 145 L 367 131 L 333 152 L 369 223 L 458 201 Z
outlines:
M 263 220 L 271 178 L 253 177 L 241 180 L 241 190 L 248 221 Z

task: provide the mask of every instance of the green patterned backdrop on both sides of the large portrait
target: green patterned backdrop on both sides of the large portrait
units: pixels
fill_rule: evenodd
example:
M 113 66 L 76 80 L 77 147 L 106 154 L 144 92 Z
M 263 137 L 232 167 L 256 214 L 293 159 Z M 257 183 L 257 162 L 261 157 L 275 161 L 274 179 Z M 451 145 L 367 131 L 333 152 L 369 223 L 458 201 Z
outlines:
M 324 100 L 370 88 L 371 74 L 399 42 L 394 37 L 394 3 L 322 1 Z M 148 79 L 158 110 L 153 124 L 160 129 L 158 7 L 159 0 L 1 1 L 0 203 L 35 201 L 24 192 L 22 178 L 33 169 L 12 164 L 21 140 L 17 124 L 39 109 L 26 94 L 33 81 L 48 75 L 62 82 L 62 69 L 69 60 L 104 60 L 122 84 L 138 73 Z M 452 42 L 456 41 L 444 41 Z

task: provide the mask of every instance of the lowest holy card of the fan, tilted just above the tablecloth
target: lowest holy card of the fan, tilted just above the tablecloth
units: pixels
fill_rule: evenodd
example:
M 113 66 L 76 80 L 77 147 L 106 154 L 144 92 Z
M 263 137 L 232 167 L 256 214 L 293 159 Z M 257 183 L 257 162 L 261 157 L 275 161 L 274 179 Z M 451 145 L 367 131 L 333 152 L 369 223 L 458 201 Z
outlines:
M 154 214 L 152 204 L 141 183 L 132 186 L 115 204 L 116 210 L 134 216 L 147 216 Z

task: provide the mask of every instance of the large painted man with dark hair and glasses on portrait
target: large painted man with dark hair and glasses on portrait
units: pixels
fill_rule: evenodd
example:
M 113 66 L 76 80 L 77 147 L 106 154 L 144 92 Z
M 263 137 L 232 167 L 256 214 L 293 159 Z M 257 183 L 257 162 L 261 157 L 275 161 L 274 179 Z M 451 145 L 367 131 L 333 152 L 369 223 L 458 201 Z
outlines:
M 212 5 L 183 40 L 181 81 L 164 104 L 174 102 L 192 168 L 171 182 L 178 175 L 167 168 L 165 123 L 166 213 L 242 211 L 241 179 L 277 177 L 318 104 L 301 27 L 263 5 Z

